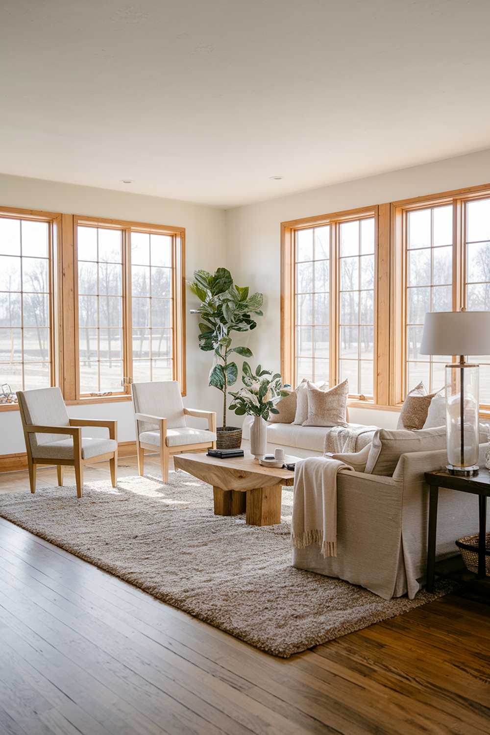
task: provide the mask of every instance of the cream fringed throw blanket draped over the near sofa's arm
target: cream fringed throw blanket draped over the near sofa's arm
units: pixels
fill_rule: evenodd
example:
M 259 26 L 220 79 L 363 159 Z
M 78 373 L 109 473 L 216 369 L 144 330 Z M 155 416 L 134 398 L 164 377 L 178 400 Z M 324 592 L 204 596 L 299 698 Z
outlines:
M 319 544 L 322 556 L 337 555 L 337 473 L 345 462 L 309 457 L 296 462 L 291 543 L 298 549 Z

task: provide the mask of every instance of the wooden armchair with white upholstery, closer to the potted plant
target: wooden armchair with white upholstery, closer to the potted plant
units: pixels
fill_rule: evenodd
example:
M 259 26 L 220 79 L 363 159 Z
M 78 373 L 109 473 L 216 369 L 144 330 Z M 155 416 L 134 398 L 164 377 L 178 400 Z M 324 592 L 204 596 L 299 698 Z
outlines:
M 162 479 L 168 482 L 170 456 L 216 446 L 215 412 L 184 409 L 177 381 L 133 383 L 131 392 L 140 476 L 145 471 L 145 451 L 159 451 Z M 207 419 L 208 429 L 187 426 L 187 416 Z

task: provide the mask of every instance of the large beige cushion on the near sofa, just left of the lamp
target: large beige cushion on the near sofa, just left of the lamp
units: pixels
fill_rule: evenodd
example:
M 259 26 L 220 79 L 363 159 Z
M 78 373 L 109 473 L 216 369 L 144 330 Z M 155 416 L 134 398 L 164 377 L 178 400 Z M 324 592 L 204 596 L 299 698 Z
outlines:
M 392 476 L 402 454 L 435 451 L 446 448 L 446 427 L 437 429 L 378 429 L 367 458 L 365 472 L 370 475 Z

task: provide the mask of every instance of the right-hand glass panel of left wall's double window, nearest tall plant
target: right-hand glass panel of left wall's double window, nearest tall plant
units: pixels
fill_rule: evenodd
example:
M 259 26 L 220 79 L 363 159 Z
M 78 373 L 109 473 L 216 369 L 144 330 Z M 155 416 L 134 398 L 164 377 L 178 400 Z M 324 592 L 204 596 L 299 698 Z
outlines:
M 174 296 L 170 235 L 131 232 L 131 295 L 132 378 L 172 380 Z

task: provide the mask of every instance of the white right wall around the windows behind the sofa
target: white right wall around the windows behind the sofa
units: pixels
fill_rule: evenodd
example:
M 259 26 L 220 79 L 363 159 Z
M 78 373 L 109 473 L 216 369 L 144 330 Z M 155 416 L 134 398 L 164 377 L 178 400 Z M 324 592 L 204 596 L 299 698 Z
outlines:
M 280 369 L 281 222 L 488 182 L 490 150 L 229 209 L 234 276 L 240 285 L 264 293 L 264 317 L 251 333 L 251 362 Z M 392 428 L 397 413 L 352 409 L 350 420 Z

